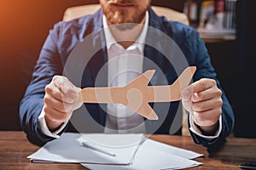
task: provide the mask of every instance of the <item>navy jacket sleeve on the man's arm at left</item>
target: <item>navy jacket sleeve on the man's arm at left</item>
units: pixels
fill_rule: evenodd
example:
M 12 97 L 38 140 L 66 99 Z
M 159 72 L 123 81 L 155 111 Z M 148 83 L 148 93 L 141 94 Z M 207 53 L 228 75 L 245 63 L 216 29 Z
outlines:
M 49 31 L 41 49 L 37 64 L 32 73 L 32 80 L 20 101 L 20 125 L 33 144 L 44 144 L 51 140 L 41 132 L 38 116 L 44 106 L 44 88 L 55 75 L 62 74 L 60 55 L 58 54 L 59 23 Z

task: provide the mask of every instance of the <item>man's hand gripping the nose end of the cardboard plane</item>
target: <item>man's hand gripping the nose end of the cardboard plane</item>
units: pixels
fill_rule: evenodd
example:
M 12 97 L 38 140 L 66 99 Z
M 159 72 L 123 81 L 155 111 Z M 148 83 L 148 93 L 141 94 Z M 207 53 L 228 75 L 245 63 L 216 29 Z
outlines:
M 45 87 L 44 113 L 49 130 L 54 131 L 63 122 L 67 122 L 74 110 L 83 103 L 80 99 L 80 88 L 69 82 L 67 77 L 55 76 Z

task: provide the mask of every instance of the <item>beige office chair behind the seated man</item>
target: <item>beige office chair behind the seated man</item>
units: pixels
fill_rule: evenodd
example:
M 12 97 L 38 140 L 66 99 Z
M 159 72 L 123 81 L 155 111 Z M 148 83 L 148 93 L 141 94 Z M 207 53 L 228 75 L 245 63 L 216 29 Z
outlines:
M 81 16 L 84 16 L 86 14 L 94 14 L 99 8 L 100 8 L 100 4 L 88 4 L 88 5 L 70 7 L 65 10 L 63 20 L 69 21 L 69 20 L 73 20 Z M 179 21 L 189 26 L 189 20 L 186 14 L 173 10 L 172 8 L 165 8 L 165 7 L 158 7 L 158 6 L 152 6 L 152 8 L 156 14 L 160 16 L 166 16 L 167 20 Z M 189 135 L 188 123 L 187 123 L 188 118 L 187 118 L 186 111 L 183 109 L 183 106 L 180 106 L 178 108 L 177 114 L 182 116 L 181 119 L 182 119 L 182 122 L 184 122 L 182 127 L 182 134 L 184 136 L 188 136 Z

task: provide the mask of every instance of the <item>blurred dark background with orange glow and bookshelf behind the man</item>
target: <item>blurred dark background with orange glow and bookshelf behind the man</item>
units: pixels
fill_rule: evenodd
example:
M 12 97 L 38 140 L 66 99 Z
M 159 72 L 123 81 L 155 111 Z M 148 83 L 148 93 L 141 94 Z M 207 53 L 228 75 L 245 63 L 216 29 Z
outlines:
M 21 130 L 20 99 L 49 29 L 62 20 L 66 8 L 90 3 L 98 1 L 0 1 L 0 130 Z M 152 4 L 188 15 L 190 26 L 204 37 L 212 65 L 235 111 L 234 136 L 256 138 L 253 0 L 153 0 Z

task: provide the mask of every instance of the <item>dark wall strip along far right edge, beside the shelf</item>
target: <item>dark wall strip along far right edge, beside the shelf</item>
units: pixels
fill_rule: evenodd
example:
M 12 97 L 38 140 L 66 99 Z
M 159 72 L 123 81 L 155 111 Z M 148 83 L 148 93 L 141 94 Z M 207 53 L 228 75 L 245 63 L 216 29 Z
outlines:
M 236 86 L 236 137 L 256 138 L 255 0 L 238 1 L 238 74 Z

